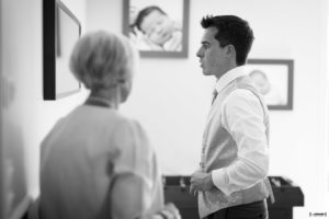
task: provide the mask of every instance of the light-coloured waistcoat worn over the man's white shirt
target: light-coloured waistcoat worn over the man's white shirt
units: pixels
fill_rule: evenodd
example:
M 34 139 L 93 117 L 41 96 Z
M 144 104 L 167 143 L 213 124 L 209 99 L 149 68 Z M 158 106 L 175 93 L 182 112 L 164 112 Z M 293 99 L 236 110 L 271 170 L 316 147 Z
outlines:
M 219 92 L 208 114 L 203 135 L 200 163 L 203 172 L 208 173 L 212 170 L 228 166 L 238 158 L 237 145 L 220 122 L 223 101 L 236 89 L 247 89 L 259 99 L 263 106 L 265 134 L 269 140 L 269 113 L 266 105 L 252 85 L 250 78 L 239 77 Z M 217 188 L 213 188 L 209 192 L 200 192 L 198 214 L 201 218 L 204 218 L 223 208 L 262 200 L 269 197 L 270 194 L 271 196 L 273 195 L 268 178 L 262 180 L 250 188 L 234 192 L 229 196 L 226 196 Z

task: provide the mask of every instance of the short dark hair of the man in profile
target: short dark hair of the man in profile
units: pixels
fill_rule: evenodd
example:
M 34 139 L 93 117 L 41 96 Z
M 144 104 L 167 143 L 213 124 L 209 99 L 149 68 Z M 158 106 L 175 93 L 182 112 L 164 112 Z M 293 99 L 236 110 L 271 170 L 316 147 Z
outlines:
M 235 15 L 207 15 L 202 19 L 203 28 L 214 26 L 217 28 L 215 38 L 220 47 L 232 45 L 236 49 L 238 66 L 245 65 L 253 42 L 253 33 L 247 21 Z

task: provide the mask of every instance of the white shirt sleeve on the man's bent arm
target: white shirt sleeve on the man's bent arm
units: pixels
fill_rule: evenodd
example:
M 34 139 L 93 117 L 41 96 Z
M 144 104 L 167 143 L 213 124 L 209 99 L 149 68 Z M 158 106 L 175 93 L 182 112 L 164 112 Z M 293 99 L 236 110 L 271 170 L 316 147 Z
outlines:
M 228 166 L 212 171 L 216 187 L 229 195 L 246 189 L 269 172 L 269 147 L 264 113 L 259 99 L 238 89 L 223 103 L 222 123 L 238 148 L 238 158 Z

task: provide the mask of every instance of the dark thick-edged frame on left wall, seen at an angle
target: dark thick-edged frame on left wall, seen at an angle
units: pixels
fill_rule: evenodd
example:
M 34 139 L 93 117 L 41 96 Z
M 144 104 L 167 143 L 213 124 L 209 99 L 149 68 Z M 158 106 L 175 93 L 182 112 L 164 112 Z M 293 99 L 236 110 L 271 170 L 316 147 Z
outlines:
M 81 35 L 81 23 L 59 0 L 43 1 L 44 100 L 79 92 L 80 82 L 69 70 L 69 57 Z

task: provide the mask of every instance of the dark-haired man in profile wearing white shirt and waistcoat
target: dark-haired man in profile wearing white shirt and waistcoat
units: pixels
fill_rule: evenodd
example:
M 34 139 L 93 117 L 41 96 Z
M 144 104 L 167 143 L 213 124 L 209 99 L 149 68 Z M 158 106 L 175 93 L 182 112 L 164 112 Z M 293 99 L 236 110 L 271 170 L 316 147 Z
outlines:
M 269 113 L 245 70 L 253 33 L 235 15 L 205 16 L 196 56 L 217 80 L 203 134 L 200 169 L 191 176 L 201 218 L 265 219 L 273 193 L 269 172 Z

